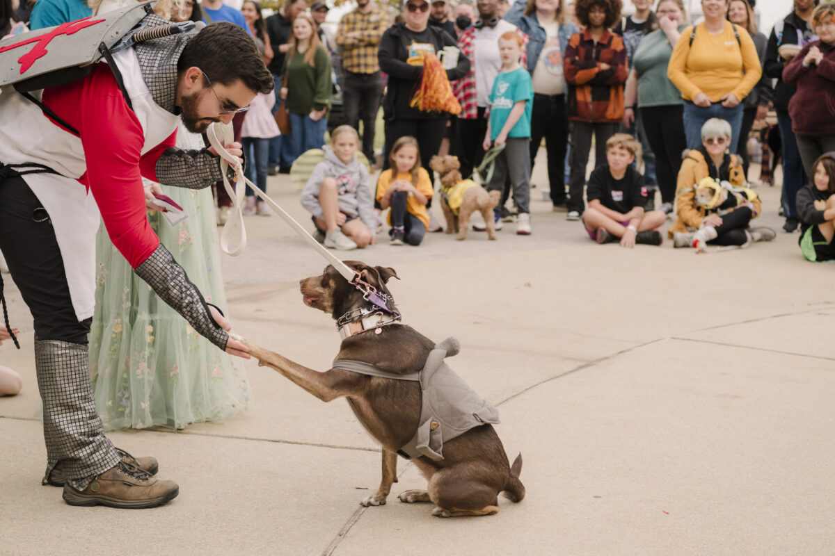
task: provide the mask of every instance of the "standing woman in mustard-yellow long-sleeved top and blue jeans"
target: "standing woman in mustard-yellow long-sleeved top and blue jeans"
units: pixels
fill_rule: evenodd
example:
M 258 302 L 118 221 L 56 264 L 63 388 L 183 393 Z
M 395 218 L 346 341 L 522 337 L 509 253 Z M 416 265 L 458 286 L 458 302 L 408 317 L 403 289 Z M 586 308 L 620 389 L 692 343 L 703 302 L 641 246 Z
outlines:
M 751 35 L 725 19 L 728 2 L 701 0 L 705 21 L 681 33 L 667 66 L 667 77 L 684 99 L 687 148 L 701 145 L 699 132 L 708 119 L 722 118 L 731 123 L 730 148 L 736 153 L 742 99 L 762 76 Z

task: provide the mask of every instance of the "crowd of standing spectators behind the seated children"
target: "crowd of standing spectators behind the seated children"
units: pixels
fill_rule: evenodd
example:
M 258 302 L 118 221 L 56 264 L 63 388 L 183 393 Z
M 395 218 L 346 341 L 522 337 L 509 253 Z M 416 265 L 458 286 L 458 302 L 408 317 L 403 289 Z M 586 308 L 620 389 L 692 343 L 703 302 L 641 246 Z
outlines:
M 772 158 L 782 161 L 787 233 L 805 229 L 797 192 L 811 183 L 817 159 L 835 150 L 835 8 L 818 6 L 821 0 L 785 0 L 790 13 L 762 31 L 756 0 L 701 0 L 693 23 L 682 0 L 631 0 L 629 10 L 622 0 L 404 0 L 399 7 L 356 0 L 338 22 L 331 18 L 331 32 L 331 7 L 309 1 L 285 0 L 268 17 L 257 0 L 245 0 L 240 10 L 222 0 L 182 3 L 185 19 L 247 29 L 273 74 L 274 98 L 257 98 L 251 112 L 234 122 L 236 138 L 245 132 L 250 175 L 260 188 L 266 188 L 266 175 L 288 173 L 301 153 L 326 143 L 331 96 L 340 90 L 339 123 L 357 130 L 357 150 L 375 168 L 389 168 L 394 143 L 411 137 L 430 176 L 429 159 L 438 153 L 456 155 L 463 177 L 472 176 L 486 149 L 496 146 L 487 133 L 493 85 L 503 71 L 498 39 L 506 33 L 519 36 L 519 63 L 533 88 L 525 108 L 531 113 L 528 128 L 521 132 L 529 166 L 544 145 L 549 198 L 554 213 L 564 212 L 569 220 L 583 219 L 586 210 L 592 146 L 595 166 L 606 164 L 607 142 L 615 133 L 628 133 L 640 144 L 630 168 L 640 169 L 649 192 L 645 208 L 655 208 L 657 188 L 660 211 L 684 222 L 681 172 L 700 149 L 710 158 L 706 122 L 718 118 L 730 125 L 723 153 L 738 155 L 741 182 L 734 187 L 748 183 L 751 129 L 766 128 L 770 143 L 779 146 Z M 3 29 L 8 33 L 20 20 L 41 28 L 86 17 L 97 9 L 91 2 L 3 0 Z M 456 59 L 445 63 L 445 76 L 460 112 L 417 108 L 412 99 L 424 57 L 450 48 Z M 375 143 L 381 107 L 384 138 Z M 289 114 L 289 133 L 278 133 L 270 122 L 280 108 Z M 776 125 L 766 122 L 770 110 Z M 250 122 L 244 124 L 245 118 Z M 381 143 L 382 153 L 376 152 Z M 735 165 L 737 159 L 728 160 Z M 504 164 L 504 158 L 499 161 Z M 727 168 L 716 170 L 720 178 Z M 505 206 L 513 190 L 510 173 L 500 172 L 504 195 L 497 223 L 527 213 Z M 696 183 L 687 187 L 695 191 Z M 216 197 L 222 223 L 230 201 L 222 188 Z M 428 196 L 427 208 L 431 203 Z M 379 213 L 379 202 L 376 208 Z M 250 196 L 245 213 L 269 209 Z M 431 214 L 427 231 L 439 231 Z M 689 228 L 687 233 L 698 231 Z

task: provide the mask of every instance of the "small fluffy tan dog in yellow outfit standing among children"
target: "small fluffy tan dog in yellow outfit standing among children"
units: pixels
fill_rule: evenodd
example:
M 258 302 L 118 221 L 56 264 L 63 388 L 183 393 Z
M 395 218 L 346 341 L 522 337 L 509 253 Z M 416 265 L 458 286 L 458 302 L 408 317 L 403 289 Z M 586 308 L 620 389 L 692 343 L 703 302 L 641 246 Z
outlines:
M 445 155 L 433 156 L 429 161 L 432 168 L 441 177 L 441 208 L 447 219 L 447 233 L 456 233 L 456 239 L 467 238 L 469 219 L 478 211 L 487 225 L 488 239 L 496 238 L 496 228 L 493 224 L 493 208 L 498 205 L 502 197 L 500 191 L 488 192 L 471 179 L 462 179 L 458 168 L 461 163 L 458 158 Z

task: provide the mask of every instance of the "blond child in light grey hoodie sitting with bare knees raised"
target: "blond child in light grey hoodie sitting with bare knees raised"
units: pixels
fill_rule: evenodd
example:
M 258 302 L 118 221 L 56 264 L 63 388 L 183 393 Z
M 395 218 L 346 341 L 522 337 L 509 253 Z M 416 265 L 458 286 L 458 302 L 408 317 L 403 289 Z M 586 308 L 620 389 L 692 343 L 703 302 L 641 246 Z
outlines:
M 301 206 L 313 215 L 317 239 L 327 248 L 350 251 L 377 243 L 371 179 L 357 160 L 358 143 L 351 126 L 334 129 L 325 160 L 316 164 L 301 191 Z

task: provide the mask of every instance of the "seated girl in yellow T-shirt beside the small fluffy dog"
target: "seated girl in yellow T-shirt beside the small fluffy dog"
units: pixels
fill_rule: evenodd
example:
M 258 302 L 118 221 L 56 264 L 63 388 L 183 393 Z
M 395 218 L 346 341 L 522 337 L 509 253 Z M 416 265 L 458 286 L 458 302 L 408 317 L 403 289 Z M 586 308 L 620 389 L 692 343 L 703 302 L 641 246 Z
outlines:
M 404 135 L 389 153 L 392 168 L 380 174 L 377 202 L 383 210 L 391 207 L 388 223 L 392 245 L 420 245 L 429 226 L 426 203 L 432 197 L 432 180 L 420 163 L 417 139 Z

